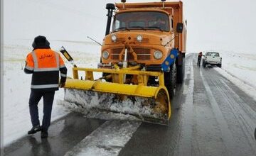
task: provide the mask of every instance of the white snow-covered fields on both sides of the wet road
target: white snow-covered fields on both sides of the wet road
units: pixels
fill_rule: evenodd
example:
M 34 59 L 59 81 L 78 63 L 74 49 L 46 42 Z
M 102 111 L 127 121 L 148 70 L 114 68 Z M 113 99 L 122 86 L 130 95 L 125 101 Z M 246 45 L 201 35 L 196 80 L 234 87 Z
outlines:
M 27 53 L 32 50 L 32 41 L 16 40 L 15 42 L 6 42 L 4 45 L 4 145 L 26 135 L 31 128 L 28 111 L 31 74 L 25 74 L 23 67 Z M 97 67 L 97 62 L 100 60 L 100 46 L 90 41 L 50 40 L 50 45 L 53 45 L 51 48 L 56 51 L 63 45 L 80 67 Z M 221 69 L 214 67 L 213 69 L 230 79 L 256 100 L 256 55 L 235 52 L 220 52 L 220 54 L 223 57 L 223 67 Z M 68 76 L 72 77 L 72 65 L 69 62 L 65 63 L 68 67 Z M 63 89 L 60 89 L 55 93 L 52 121 L 70 112 L 70 109 L 61 102 L 63 101 L 63 92 Z M 38 106 L 42 121 L 42 101 Z M 120 118 L 124 117 L 120 116 Z

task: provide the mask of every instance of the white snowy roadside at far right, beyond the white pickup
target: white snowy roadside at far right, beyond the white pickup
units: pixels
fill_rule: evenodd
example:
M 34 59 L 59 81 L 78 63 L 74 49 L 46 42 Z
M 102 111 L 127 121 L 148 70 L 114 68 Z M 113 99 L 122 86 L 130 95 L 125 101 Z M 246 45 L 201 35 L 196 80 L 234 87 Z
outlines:
M 215 67 L 256 101 L 256 54 L 220 52 L 222 68 Z

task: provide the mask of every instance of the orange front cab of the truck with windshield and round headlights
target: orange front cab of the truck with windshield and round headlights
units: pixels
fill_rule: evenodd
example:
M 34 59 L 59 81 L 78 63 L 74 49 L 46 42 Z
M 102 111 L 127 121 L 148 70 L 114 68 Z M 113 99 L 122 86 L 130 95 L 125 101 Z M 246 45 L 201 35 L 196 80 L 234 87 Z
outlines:
M 172 18 L 161 10 L 120 11 L 114 16 L 112 33 L 105 37 L 102 62 L 113 64 L 124 61 L 122 51 L 129 47 L 128 62 L 144 65 L 146 69 L 159 65 L 160 70 L 161 63 L 174 48 L 171 21 Z

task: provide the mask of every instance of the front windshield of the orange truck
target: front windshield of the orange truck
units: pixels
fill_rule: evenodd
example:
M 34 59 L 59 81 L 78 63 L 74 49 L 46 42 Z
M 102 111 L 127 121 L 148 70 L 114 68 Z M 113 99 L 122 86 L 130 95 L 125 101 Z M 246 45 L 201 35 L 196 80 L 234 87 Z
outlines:
M 113 29 L 114 31 L 134 29 L 169 31 L 169 26 L 169 18 L 166 13 L 136 11 L 117 13 Z

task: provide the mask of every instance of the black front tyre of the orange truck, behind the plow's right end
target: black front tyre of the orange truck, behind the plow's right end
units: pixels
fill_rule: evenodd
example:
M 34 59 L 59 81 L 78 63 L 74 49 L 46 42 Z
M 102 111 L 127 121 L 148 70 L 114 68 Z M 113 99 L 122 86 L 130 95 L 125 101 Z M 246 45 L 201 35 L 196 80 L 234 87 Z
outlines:
M 174 91 L 176 88 L 176 65 L 175 63 L 171 65 L 170 72 L 164 72 L 164 84 L 168 90 L 169 97 L 172 99 L 174 97 Z

